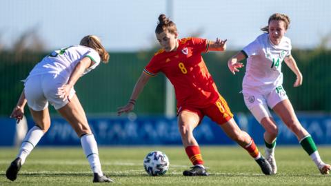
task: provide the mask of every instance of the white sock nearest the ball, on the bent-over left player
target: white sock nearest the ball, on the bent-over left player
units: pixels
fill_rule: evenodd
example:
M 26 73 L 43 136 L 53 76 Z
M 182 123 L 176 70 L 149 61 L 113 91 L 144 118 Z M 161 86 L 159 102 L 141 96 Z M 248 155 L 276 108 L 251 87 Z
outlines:
M 94 135 L 86 134 L 81 136 L 81 146 L 83 147 L 86 158 L 88 158 L 88 163 L 90 163 L 92 172 L 99 174 L 99 176 L 103 176 L 97 141 L 95 141 Z

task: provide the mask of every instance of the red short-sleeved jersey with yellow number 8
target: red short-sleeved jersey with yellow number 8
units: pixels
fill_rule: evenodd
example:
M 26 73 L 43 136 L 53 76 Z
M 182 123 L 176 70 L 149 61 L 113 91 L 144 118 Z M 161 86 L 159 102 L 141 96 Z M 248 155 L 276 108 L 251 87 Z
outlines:
M 174 85 L 177 106 L 205 107 L 219 99 L 219 92 L 201 56 L 208 52 L 209 41 L 198 38 L 178 40 L 176 51 L 159 50 L 143 72 L 157 76 L 163 72 Z

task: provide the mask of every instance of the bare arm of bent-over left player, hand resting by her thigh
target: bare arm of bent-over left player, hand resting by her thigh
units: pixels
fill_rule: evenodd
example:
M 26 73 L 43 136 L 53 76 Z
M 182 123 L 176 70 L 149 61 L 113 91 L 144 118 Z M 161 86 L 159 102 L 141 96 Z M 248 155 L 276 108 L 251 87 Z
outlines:
M 93 65 L 92 59 L 89 57 L 84 57 L 77 63 L 76 67 L 74 68 L 74 71 L 70 75 L 70 78 L 68 80 L 68 83 L 62 85 L 62 87 L 58 88 L 57 94 L 61 99 L 69 100 L 69 94 L 71 88 L 74 86 L 74 84 L 78 81 L 78 79 L 83 75 L 86 69 L 88 69 L 91 65 Z

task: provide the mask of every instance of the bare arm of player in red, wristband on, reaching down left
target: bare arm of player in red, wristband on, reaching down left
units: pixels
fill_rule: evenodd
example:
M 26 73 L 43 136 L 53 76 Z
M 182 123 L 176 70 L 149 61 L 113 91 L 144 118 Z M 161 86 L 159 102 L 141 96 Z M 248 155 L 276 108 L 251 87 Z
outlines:
M 130 112 L 134 109 L 134 104 L 136 103 L 136 100 L 138 99 L 139 94 L 143 91 L 143 87 L 148 83 L 150 80 L 150 75 L 146 73 L 141 73 L 141 76 L 137 80 L 136 85 L 134 85 L 130 100 L 128 101 L 128 104 L 126 104 L 124 107 L 119 107 L 117 109 L 117 115 L 121 115 L 123 112 Z

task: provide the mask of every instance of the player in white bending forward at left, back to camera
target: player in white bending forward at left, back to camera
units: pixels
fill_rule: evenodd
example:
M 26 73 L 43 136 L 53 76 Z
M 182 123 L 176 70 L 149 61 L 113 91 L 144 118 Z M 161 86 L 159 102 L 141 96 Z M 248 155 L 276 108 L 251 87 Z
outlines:
M 108 63 L 108 60 L 109 54 L 99 38 L 88 35 L 81 39 L 79 45 L 55 50 L 34 66 L 10 117 L 21 120 L 24 106 L 28 103 L 36 125 L 28 131 L 17 158 L 8 167 L 6 172 L 8 179 L 14 181 L 17 178 L 27 156 L 50 128 L 48 112 L 48 102 L 50 102 L 81 138 L 83 151 L 94 173 L 93 182 L 112 182 L 103 175 L 97 142 L 74 91 L 74 84 L 83 74 L 96 68 L 100 61 Z

